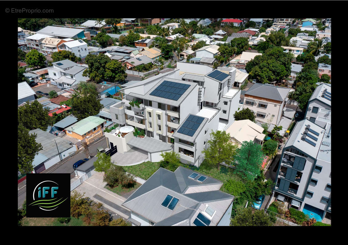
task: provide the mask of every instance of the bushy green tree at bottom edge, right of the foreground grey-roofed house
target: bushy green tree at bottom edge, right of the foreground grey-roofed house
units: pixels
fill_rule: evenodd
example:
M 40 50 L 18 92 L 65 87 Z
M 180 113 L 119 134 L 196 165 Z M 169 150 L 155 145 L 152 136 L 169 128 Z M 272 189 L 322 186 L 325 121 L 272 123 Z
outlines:
M 232 226 L 272 226 L 270 217 L 263 210 L 240 208 L 236 217 L 231 219 Z

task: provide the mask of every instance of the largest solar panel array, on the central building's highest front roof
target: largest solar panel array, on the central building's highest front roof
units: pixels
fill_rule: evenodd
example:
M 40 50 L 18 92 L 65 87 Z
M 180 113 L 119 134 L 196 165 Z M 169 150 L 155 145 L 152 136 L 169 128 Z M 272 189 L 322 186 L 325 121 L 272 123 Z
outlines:
M 188 84 L 163 81 L 160 85 L 157 86 L 155 90 L 150 93 L 150 95 L 166 99 L 178 100 L 189 87 L 190 85 Z

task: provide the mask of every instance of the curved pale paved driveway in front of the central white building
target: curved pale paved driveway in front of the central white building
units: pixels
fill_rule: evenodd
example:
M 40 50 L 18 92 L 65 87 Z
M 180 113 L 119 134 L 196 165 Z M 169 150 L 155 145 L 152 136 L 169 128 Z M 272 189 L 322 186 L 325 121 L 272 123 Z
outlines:
M 116 152 L 111 156 L 111 161 L 116 165 L 127 166 L 141 164 L 148 159 L 148 152 L 132 147 L 129 151 L 122 154 L 121 152 Z

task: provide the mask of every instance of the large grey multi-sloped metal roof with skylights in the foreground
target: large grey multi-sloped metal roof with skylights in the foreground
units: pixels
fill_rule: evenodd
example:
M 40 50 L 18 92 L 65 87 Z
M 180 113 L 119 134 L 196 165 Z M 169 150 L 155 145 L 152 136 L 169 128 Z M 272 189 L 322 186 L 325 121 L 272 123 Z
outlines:
M 174 173 L 167 169 L 159 168 L 122 205 L 155 222 L 156 225 L 164 226 L 175 225 L 186 219 L 191 219 L 201 204 L 200 200 L 210 203 L 219 200 L 229 200 L 228 206 L 234 200 L 234 196 L 221 191 L 183 194 L 190 186 L 222 184 L 220 181 L 208 176 L 206 176 L 207 179 L 203 183 L 200 183 L 188 178 L 192 173 L 192 170 L 181 166 Z M 173 211 L 161 206 L 168 194 L 179 199 L 179 203 Z M 221 207 L 223 210 L 220 211 L 224 213 L 228 206 Z

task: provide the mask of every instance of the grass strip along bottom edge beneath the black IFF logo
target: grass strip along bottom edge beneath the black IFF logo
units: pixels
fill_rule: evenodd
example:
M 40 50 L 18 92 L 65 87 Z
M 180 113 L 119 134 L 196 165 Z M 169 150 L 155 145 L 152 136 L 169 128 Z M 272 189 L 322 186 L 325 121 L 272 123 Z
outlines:
M 27 218 L 22 219 L 23 226 L 84 226 L 82 221 L 83 216 L 79 219 L 71 217 L 68 224 L 64 225 L 58 222 L 57 218 Z

